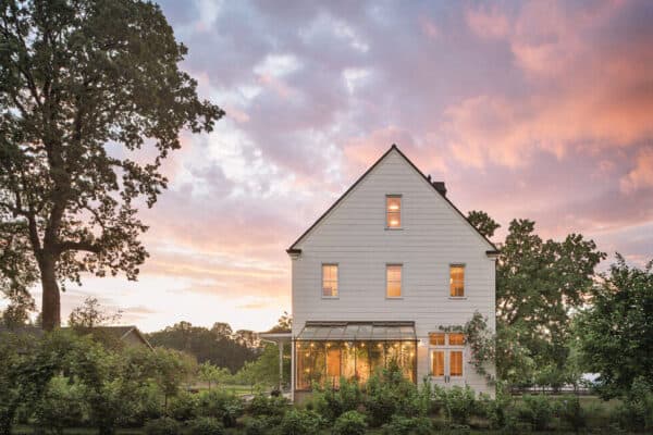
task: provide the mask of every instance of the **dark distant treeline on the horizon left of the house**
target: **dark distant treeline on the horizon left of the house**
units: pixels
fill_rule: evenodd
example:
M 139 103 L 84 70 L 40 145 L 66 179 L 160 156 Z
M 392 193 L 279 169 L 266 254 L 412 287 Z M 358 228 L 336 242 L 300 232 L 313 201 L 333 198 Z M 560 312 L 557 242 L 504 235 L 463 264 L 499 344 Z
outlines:
M 232 373 L 254 361 L 261 349 L 258 335 L 252 331 L 233 332 L 227 323 L 214 323 L 211 328 L 180 322 L 161 331 L 147 334 L 152 346 L 163 346 L 194 356 L 197 362 L 210 362 Z

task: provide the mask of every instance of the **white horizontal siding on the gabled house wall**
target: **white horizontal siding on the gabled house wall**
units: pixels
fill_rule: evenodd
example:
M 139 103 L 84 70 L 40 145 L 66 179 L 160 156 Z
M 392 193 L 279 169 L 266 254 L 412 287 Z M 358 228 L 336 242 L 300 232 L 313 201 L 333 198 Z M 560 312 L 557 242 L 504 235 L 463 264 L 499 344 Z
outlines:
M 385 196 L 402 195 L 402 229 L 385 229 Z M 419 338 L 463 325 L 478 310 L 494 330 L 492 247 L 396 151 L 392 151 L 296 246 L 293 333 L 306 321 L 415 321 Z M 338 298 L 321 297 L 321 264 L 338 264 Z M 403 297 L 385 298 L 385 265 L 402 263 Z M 464 263 L 464 300 L 452 300 L 448 268 Z M 466 382 L 485 382 L 466 368 Z M 427 347 L 418 378 L 428 373 Z

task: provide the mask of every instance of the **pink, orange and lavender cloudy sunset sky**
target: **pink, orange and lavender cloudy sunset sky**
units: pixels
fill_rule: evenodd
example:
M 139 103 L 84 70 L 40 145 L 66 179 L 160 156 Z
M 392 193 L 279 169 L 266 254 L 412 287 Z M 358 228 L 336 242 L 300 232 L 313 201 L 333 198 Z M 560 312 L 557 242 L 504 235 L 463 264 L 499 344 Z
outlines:
M 653 2 L 176 1 L 183 69 L 227 115 L 183 134 L 143 212 L 139 281 L 87 278 L 123 323 L 263 330 L 285 249 L 394 142 L 464 212 L 653 258 Z M 36 294 L 40 301 L 40 295 Z

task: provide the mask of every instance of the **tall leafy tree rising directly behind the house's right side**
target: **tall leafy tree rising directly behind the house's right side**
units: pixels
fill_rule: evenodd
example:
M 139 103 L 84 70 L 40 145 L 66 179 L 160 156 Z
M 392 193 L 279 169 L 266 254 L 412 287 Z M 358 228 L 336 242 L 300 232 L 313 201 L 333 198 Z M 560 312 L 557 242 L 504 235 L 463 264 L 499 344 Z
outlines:
M 554 387 L 568 381 L 570 312 L 584 302 L 604 258 L 581 235 L 542 240 L 534 222 L 510 222 L 496 269 L 500 378 L 530 384 L 545 369 Z

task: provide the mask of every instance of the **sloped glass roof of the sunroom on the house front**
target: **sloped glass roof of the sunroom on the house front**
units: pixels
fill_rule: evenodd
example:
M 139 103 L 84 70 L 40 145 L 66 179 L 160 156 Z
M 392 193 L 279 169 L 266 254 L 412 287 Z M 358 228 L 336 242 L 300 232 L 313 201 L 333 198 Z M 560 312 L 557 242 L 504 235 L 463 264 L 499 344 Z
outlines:
M 415 322 L 306 322 L 297 340 L 415 341 Z

